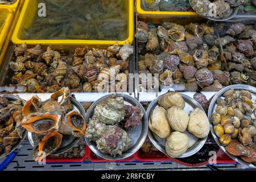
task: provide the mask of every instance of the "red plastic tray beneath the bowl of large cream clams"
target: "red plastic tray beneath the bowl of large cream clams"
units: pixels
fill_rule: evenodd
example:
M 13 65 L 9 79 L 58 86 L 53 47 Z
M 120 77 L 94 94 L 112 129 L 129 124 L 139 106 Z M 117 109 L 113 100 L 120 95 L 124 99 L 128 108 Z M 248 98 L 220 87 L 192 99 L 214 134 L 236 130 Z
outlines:
M 218 156 L 217 157 L 217 163 L 235 163 L 235 161 L 233 159 L 229 158 L 229 156 L 226 155 L 221 149 L 218 150 L 217 156 Z M 172 161 L 173 160 L 173 161 L 178 162 L 180 164 L 182 163 L 180 161 L 176 161 L 175 159 L 168 158 L 166 155 L 164 155 L 160 151 L 145 153 L 145 152 L 139 150 L 135 154 L 135 157 L 140 162 L 156 162 L 156 161 Z M 207 163 L 208 162 L 202 163 L 202 164 L 207 164 Z

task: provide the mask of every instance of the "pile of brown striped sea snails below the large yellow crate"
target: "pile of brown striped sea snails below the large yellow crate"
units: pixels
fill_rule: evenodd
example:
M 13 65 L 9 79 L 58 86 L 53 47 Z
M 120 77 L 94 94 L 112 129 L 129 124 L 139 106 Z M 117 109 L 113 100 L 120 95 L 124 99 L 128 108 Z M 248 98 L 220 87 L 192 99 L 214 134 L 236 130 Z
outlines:
M 40 45 L 28 48 L 26 43 L 20 44 L 15 48 L 15 61 L 10 62 L 15 73 L 9 86 L 14 86 L 15 92 L 29 93 L 52 93 L 63 86 L 72 92 L 108 91 L 98 88 L 106 82 L 127 81 L 133 50 L 133 46 L 116 43 L 107 49 L 76 48 L 75 53 L 68 56 L 51 47 L 45 50 Z M 110 69 L 114 72 L 111 80 Z

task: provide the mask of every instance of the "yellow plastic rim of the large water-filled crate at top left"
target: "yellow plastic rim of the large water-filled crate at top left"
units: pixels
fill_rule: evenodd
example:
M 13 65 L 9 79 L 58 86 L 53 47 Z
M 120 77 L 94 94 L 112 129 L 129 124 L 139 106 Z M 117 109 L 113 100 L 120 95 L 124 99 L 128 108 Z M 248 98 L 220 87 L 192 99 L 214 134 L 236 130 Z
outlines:
M 104 0 L 105 1 L 105 0 Z M 37 15 L 38 10 L 38 1 L 37 0 L 26 0 L 24 2 L 22 11 L 20 13 L 18 22 L 16 24 L 14 34 L 12 36 L 12 41 L 14 44 L 22 44 L 27 43 L 28 45 L 111 45 L 118 42 L 119 45 L 123 45 L 125 43 L 132 44 L 134 37 L 134 0 L 129 1 L 128 8 L 128 22 L 127 22 L 127 39 L 126 40 L 22 40 L 21 37 L 24 34 L 23 28 L 27 29 L 31 26 L 35 16 Z

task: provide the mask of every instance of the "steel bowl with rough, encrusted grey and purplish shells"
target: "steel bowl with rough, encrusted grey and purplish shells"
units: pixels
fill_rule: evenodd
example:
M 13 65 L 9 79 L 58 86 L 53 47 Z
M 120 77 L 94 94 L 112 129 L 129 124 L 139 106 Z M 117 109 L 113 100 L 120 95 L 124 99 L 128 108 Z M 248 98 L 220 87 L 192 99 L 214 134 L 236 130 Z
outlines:
M 85 122 L 87 145 L 106 160 L 129 158 L 147 137 L 146 111 L 126 94 L 108 94 L 95 101 L 86 113 Z

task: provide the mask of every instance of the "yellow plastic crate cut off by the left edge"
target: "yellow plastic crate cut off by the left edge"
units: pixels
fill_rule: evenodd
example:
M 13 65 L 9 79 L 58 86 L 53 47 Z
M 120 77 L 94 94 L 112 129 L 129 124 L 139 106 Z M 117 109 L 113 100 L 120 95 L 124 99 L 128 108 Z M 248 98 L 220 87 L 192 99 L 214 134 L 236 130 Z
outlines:
M 0 53 L 3 55 L 3 45 L 9 42 L 10 26 L 13 20 L 14 11 L 10 7 L 0 6 Z

